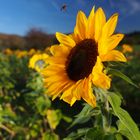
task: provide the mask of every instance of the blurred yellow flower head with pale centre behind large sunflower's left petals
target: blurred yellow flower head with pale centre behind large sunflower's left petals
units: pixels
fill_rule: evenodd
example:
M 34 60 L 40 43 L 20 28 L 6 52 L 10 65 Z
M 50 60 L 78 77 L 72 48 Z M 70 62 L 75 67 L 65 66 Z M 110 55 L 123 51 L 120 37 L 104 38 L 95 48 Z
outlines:
M 45 59 L 48 58 L 47 54 L 35 54 L 30 58 L 29 68 L 35 69 L 40 72 L 46 65 Z

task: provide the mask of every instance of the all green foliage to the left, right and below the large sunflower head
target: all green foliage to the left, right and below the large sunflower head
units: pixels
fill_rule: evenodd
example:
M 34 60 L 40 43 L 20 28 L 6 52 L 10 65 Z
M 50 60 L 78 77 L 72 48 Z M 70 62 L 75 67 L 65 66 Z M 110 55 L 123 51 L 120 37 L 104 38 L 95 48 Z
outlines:
M 120 94 L 123 93 L 127 97 L 135 96 L 140 100 L 138 98 L 140 97 L 139 58 L 134 58 L 127 65 L 116 62 L 107 64 L 105 71 L 113 77 L 112 88 L 106 91 L 93 87 L 97 107 L 92 108 L 88 104 L 83 104 L 83 108 L 78 115 L 75 115 L 73 121 L 69 117 L 71 114 L 65 115 L 63 107 L 60 109 L 59 103 L 55 107 L 54 102 L 52 103 L 45 94 L 47 89 L 43 86 L 42 76 L 28 68 L 28 59 L 28 57 L 19 59 L 14 55 L 6 56 L 0 53 L 0 138 L 3 140 L 60 140 L 64 137 L 64 140 L 140 139 L 138 126 L 128 112 L 121 108 L 124 100 Z M 66 134 L 61 134 L 63 130 Z

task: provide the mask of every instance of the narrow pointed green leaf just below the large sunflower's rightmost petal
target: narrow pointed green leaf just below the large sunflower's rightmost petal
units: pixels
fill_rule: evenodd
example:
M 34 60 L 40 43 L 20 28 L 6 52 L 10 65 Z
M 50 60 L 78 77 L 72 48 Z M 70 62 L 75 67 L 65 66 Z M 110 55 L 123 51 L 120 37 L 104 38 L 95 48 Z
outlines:
M 115 70 L 115 69 L 109 69 L 108 73 L 112 74 L 112 75 L 115 75 L 115 76 L 118 76 L 118 77 L 122 78 L 123 80 L 125 80 L 126 82 L 128 82 L 129 84 L 138 88 L 138 86 L 129 77 L 124 75 L 122 72 L 120 72 L 118 70 Z

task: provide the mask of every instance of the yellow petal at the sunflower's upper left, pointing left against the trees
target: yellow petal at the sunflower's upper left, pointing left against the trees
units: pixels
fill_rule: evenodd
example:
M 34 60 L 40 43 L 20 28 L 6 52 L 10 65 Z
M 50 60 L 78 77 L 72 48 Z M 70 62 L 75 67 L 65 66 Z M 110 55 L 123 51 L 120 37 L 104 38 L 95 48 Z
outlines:
M 56 38 L 63 45 L 66 45 L 68 47 L 74 47 L 75 46 L 74 40 L 72 40 L 72 38 L 69 37 L 68 35 L 56 32 Z

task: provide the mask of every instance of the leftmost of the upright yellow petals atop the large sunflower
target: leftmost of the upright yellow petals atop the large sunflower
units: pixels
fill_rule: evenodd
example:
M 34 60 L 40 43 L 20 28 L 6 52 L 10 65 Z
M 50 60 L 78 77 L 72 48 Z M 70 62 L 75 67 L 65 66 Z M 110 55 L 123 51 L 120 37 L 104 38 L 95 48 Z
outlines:
M 74 34 L 78 34 L 81 40 L 85 39 L 86 37 L 86 27 L 87 27 L 87 17 L 82 11 L 79 11 L 76 18 L 76 26 L 74 29 Z

